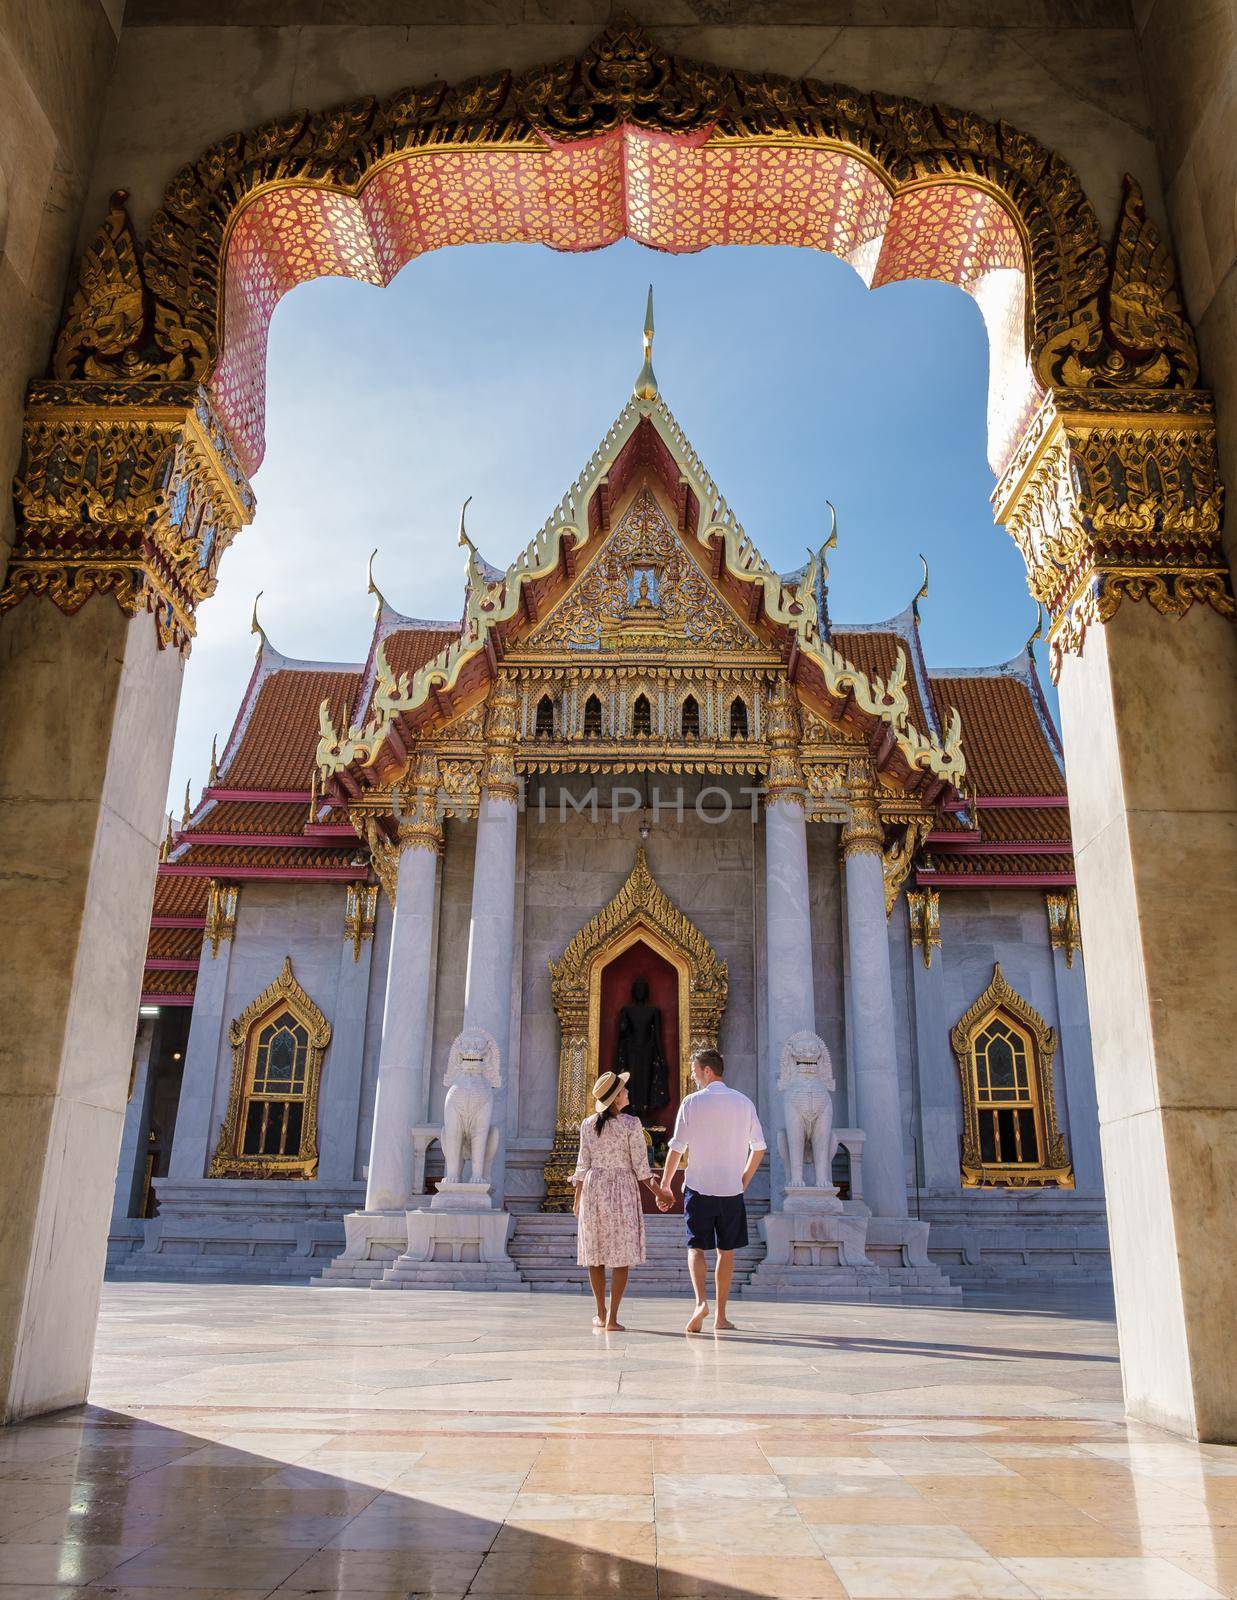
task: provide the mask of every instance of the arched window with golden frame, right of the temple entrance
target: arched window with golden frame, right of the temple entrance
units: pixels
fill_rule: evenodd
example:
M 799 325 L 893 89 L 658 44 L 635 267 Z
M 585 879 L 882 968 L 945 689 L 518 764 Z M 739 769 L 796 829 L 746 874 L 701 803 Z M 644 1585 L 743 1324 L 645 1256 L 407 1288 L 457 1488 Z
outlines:
M 951 1040 L 962 1074 L 962 1182 L 1072 1189 L 1053 1098 L 1056 1034 L 1000 963 Z

